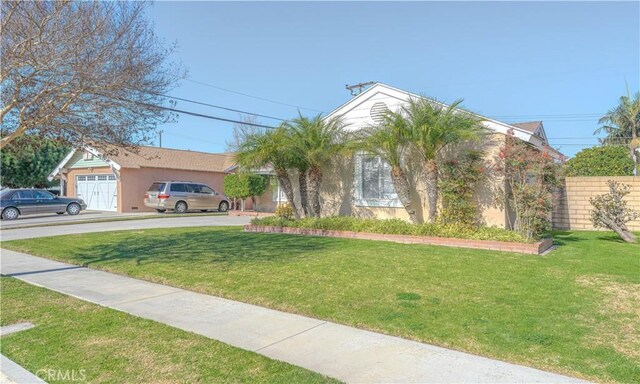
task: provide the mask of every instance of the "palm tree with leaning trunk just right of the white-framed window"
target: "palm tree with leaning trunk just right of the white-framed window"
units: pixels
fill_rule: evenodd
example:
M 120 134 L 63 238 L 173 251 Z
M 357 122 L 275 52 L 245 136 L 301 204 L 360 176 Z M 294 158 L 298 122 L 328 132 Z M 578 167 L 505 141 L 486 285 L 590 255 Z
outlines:
M 409 220 L 420 222 L 411 201 L 409 179 L 403 169 L 403 158 L 407 152 L 408 121 L 401 113 L 387 111 L 377 126 L 371 126 L 361 132 L 358 147 L 380 156 L 391 167 L 391 180 L 400 203 L 409 214 Z

